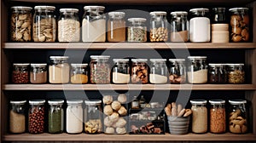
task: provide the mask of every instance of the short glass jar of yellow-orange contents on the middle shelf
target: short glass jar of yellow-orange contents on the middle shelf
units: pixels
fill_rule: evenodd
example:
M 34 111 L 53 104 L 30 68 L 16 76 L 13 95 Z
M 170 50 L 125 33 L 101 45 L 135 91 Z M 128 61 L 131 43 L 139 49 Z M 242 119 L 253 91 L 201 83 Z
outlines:
M 75 84 L 88 83 L 88 64 L 71 64 L 70 82 Z

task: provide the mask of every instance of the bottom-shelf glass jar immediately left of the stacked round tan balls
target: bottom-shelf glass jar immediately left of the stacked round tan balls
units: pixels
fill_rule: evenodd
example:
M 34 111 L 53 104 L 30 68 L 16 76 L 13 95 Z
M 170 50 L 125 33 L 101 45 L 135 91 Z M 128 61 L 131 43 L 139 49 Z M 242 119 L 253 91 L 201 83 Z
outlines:
M 84 131 L 87 134 L 102 133 L 102 100 L 85 100 Z

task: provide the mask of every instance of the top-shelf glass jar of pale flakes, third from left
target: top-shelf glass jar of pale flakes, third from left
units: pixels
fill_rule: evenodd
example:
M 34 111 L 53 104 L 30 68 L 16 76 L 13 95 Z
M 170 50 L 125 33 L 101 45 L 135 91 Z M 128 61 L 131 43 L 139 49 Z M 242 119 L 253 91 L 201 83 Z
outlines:
M 79 42 L 80 22 L 79 9 L 60 9 L 58 20 L 59 42 Z

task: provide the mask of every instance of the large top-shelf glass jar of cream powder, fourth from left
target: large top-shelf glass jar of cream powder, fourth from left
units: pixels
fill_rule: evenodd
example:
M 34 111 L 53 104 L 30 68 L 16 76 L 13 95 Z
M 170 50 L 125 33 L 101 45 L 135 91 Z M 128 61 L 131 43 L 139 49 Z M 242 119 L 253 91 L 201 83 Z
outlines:
M 85 6 L 82 24 L 83 42 L 106 41 L 106 16 L 105 7 Z

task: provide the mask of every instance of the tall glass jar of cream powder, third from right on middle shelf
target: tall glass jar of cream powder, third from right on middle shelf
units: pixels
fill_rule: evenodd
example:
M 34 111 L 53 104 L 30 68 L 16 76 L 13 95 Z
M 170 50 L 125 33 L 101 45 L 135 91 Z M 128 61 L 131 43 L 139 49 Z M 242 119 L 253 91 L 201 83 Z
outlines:
M 207 83 L 207 56 L 189 56 L 189 83 Z

